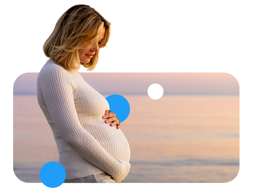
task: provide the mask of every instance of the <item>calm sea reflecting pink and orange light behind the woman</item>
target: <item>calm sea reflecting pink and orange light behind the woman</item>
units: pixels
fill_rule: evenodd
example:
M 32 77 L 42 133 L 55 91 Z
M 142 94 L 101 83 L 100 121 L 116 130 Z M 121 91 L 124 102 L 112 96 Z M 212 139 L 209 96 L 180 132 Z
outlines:
M 131 170 L 124 182 L 229 182 L 236 177 L 239 96 L 123 96 L 131 108 L 121 127 L 131 148 Z M 36 95 L 14 95 L 16 176 L 41 182 L 41 167 L 58 160 Z

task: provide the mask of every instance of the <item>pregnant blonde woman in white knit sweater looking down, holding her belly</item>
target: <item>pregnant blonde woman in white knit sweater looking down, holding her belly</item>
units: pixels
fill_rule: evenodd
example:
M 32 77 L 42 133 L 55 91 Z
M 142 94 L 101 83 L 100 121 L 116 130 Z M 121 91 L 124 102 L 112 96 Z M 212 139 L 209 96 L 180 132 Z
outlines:
M 109 35 L 110 23 L 95 9 L 75 5 L 43 47 L 50 59 L 37 78 L 37 100 L 66 170 L 64 182 L 120 183 L 130 170 L 129 144 L 116 115 L 77 71 L 95 68 Z

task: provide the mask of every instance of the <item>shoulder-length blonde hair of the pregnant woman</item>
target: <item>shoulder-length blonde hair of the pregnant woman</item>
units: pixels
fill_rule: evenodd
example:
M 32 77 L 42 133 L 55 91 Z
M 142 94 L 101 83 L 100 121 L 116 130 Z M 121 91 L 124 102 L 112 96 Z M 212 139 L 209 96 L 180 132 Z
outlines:
M 92 7 L 75 5 L 57 21 L 52 34 L 44 43 L 44 54 L 68 70 L 77 70 L 80 67 L 76 65 L 80 63 L 78 50 L 95 44 L 103 27 L 106 31 L 99 48 L 105 47 L 110 35 L 110 25 Z M 92 70 L 98 59 L 99 52 L 95 52 L 88 64 L 80 64 L 87 70 Z

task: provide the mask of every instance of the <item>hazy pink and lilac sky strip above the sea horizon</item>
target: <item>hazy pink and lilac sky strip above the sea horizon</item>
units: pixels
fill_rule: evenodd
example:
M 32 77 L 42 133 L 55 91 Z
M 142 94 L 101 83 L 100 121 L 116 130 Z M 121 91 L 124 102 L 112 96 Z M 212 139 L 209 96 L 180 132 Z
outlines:
M 148 94 L 151 84 L 160 84 L 164 94 L 239 95 L 236 78 L 228 73 L 80 73 L 101 94 Z M 20 75 L 14 94 L 36 94 L 38 73 Z

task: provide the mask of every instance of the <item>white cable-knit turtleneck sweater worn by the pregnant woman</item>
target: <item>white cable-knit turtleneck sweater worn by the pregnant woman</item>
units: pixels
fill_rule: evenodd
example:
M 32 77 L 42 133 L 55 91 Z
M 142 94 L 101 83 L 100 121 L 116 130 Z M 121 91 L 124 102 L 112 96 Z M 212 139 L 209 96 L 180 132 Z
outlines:
M 48 60 L 37 78 L 37 100 L 52 128 L 66 179 L 107 172 L 118 183 L 130 170 L 130 148 L 102 116 L 108 101 L 77 71 Z

